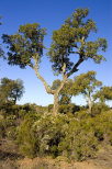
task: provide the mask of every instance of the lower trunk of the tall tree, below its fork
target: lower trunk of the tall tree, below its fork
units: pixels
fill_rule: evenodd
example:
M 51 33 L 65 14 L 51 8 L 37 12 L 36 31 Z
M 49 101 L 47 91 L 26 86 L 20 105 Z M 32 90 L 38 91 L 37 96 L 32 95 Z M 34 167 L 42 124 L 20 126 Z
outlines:
M 54 108 L 53 108 L 53 114 L 56 116 L 58 114 L 58 106 L 59 106 L 59 99 L 58 99 L 59 93 L 54 94 Z

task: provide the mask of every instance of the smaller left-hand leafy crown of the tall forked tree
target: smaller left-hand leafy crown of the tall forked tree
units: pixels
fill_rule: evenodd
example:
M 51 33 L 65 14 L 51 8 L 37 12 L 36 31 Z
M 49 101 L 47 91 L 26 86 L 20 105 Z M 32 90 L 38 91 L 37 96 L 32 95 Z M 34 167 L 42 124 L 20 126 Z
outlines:
M 9 64 L 25 68 L 25 66 L 33 66 L 33 57 L 40 61 L 45 34 L 45 29 L 41 29 L 37 23 L 21 25 L 14 35 L 4 34 L 2 38 L 3 43 L 8 44 Z

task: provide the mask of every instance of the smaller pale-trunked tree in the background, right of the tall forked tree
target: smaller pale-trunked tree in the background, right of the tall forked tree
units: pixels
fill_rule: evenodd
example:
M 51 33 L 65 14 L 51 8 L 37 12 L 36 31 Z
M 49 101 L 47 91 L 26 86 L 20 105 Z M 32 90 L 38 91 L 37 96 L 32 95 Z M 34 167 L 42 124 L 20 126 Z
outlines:
M 72 93 L 75 91 L 81 93 L 88 103 L 89 113 L 91 113 L 92 105 L 94 102 L 94 93 L 98 88 L 102 86 L 102 82 L 96 79 L 96 71 L 88 71 L 87 74 L 81 74 L 75 78 Z

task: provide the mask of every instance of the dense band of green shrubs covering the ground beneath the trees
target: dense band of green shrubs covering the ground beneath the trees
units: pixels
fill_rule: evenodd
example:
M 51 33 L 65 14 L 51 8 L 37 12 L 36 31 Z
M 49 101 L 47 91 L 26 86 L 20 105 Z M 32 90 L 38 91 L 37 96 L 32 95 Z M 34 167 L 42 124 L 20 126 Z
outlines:
M 87 108 L 61 105 L 58 115 L 35 104 L 2 105 L 0 138 L 13 140 L 20 154 L 29 157 L 52 156 L 85 160 L 93 158 L 104 145 L 112 145 L 112 110 L 97 104 Z

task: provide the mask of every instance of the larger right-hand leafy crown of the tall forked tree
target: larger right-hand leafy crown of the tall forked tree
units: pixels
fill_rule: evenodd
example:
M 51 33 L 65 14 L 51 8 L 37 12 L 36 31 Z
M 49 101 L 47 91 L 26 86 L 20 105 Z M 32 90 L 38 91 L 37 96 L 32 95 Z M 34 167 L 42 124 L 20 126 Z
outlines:
M 86 20 L 88 14 L 88 9 L 77 9 L 59 30 L 53 32 L 53 43 L 48 55 L 55 71 L 60 72 L 64 63 L 66 64 L 66 71 L 69 72 L 72 69 L 75 64 L 69 58 L 70 54 L 79 55 L 80 63 L 88 58 L 96 63 L 104 59 L 98 52 L 105 52 L 107 41 L 104 38 L 98 38 L 94 42 L 88 41 L 90 33 L 97 32 L 96 23 L 91 19 Z M 76 66 L 79 66 L 79 63 L 77 64 Z M 77 69 L 71 71 L 75 72 Z

